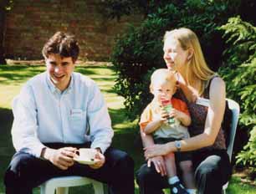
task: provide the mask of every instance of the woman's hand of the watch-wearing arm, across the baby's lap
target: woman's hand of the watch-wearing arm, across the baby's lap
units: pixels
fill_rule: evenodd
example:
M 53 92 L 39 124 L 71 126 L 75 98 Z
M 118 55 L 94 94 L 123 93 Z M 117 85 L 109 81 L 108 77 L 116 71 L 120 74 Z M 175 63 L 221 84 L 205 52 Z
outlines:
M 166 144 L 155 144 L 150 145 L 144 148 L 144 156 L 146 160 L 154 157 L 154 156 L 165 156 L 170 151 L 168 151 Z

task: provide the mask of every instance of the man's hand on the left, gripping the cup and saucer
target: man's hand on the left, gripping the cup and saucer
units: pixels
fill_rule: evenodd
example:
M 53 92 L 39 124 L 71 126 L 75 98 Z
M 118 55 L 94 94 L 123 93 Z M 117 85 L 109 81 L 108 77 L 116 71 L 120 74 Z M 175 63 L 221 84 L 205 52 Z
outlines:
M 76 148 L 74 147 L 64 147 L 58 150 L 46 148 L 44 158 L 52 162 L 54 166 L 57 166 L 62 170 L 67 170 L 69 166 L 74 165 L 74 151 L 76 151 Z

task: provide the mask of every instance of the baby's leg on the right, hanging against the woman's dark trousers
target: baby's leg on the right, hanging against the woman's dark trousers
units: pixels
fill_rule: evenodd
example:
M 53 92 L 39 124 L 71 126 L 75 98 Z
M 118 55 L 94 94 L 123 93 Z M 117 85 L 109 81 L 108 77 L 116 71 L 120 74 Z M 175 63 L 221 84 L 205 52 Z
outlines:
M 195 189 L 194 172 L 192 169 L 192 161 L 181 161 L 182 178 L 187 189 Z

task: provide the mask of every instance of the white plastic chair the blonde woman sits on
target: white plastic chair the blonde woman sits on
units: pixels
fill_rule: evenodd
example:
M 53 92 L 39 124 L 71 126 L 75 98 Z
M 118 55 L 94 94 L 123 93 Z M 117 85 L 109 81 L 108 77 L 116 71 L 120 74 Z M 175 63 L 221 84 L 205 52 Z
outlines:
M 237 130 L 237 125 L 238 125 L 238 117 L 239 117 L 239 112 L 240 112 L 240 107 L 237 102 L 234 100 L 228 100 L 228 108 L 229 110 L 232 111 L 232 120 L 231 120 L 231 125 L 230 125 L 230 133 L 229 133 L 229 143 L 228 143 L 228 156 L 231 161 L 232 158 L 232 152 L 233 152 L 233 141 L 236 135 L 236 130 Z M 223 194 L 226 194 L 226 189 L 228 188 L 228 182 L 223 185 Z

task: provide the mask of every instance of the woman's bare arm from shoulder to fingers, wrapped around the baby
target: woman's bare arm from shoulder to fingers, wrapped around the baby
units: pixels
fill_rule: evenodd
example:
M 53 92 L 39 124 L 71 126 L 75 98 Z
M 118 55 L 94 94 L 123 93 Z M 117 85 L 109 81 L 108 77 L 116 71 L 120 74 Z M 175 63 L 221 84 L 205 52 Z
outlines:
M 202 134 L 192 138 L 181 140 L 181 151 L 194 151 L 202 147 L 212 145 L 216 140 L 218 132 L 221 128 L 225 110 L 225 83 L 221 78 L 212 79 L 210 85 L 210 103 L 207 111 L 207 119 L 205 129 Z M 154 145 L 145 149 L 146 158 L 151 156 L 162 156 L 169 152 L 177 151 L 174 142 L 165 145 Z

